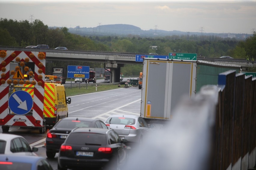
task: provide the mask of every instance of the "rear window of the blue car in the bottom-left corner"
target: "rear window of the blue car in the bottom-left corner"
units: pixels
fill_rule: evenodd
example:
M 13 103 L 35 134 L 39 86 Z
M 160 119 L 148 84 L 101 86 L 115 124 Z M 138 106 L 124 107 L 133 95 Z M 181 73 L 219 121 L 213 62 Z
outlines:
M 17 170 L 20 169 L 31 169 L 31 163 L 23 163 L 23 162 L 0 162 L 0 169 L 6 170 Z

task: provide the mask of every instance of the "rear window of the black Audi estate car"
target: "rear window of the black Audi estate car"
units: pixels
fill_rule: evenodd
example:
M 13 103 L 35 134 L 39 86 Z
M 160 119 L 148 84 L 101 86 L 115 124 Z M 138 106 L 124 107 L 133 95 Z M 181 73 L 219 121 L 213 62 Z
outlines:
M 99 133 L 70 133 L 66 139 L 66 143 L 77 145 L 106 145 L 106 135 Z

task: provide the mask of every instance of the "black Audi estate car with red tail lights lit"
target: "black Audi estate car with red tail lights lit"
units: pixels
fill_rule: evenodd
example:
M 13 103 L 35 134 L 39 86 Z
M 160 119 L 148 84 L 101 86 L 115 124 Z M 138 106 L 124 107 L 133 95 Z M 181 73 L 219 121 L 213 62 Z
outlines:
M 113 129 L 77 128 L 60 147 L 58 169 L 105 167 L 117 170 L 126 153 L 126 145 Z

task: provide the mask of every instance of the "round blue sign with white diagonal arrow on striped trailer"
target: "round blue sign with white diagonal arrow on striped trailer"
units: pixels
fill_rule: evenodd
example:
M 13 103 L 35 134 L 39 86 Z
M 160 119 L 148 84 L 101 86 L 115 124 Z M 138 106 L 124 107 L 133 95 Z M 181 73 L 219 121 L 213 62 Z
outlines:
M 8 100 L 11 111 L 17 115 L 25 115 L 33 107 L 32 96 L 23 90 L 13 92 Z

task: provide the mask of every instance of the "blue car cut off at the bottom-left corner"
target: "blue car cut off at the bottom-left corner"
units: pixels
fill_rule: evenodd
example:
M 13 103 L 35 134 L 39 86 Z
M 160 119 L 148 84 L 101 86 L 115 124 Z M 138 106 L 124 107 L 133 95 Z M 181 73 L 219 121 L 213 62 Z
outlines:
M 0 169 L 53 170 L 44 157 L 33 155 L 0 154 Z

